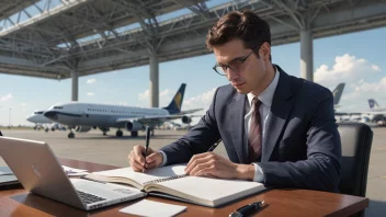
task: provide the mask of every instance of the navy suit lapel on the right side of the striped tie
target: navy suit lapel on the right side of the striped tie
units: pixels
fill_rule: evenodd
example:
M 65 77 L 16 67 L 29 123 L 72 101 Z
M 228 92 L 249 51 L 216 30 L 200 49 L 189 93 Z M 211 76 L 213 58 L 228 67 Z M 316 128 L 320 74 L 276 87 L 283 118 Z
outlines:
M 265 126 L 265 139 L 261 156 L 262 162 L 268 162 L 270 160 L 272 151 L 283 132 L 283 127 L 294 104 L 290 77 L 279 66 L 275 67 L 280 72 L 280 78 Z

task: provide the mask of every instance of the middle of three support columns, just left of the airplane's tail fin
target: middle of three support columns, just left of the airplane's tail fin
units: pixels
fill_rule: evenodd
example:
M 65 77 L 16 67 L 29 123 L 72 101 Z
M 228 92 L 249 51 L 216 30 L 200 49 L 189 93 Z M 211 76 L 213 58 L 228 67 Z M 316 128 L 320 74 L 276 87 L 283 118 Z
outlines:
M 150 55 L 150 107 L 159 106 L 159 73 L 158 73 L 158 57 L 156 54 Z

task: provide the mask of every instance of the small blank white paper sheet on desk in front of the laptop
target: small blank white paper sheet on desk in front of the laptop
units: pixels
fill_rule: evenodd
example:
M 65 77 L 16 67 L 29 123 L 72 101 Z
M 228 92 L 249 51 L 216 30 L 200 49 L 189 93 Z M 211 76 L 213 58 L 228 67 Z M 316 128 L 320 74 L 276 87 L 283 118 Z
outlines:
M 166 204 L 160 202 L 154 202 L 149 199 L 143 199 L 123 209 L 121 213 L 137 215 L 137 216 L 175 216 L 186 209 L 186 206 L 178 206 L 172 204 Z

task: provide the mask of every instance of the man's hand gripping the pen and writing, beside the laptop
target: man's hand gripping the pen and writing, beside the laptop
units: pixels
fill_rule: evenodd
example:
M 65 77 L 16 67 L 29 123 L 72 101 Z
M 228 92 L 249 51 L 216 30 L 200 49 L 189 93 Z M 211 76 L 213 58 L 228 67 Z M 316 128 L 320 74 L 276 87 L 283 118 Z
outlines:
M 146 165 L 145 165 L 145 147 L 135 146 L 133 150 L 128 153 L 128 163 L 134 171 L 145 171 L 146 169 L 157 168 L 162 163 L 163 157 L 162 153 L 152 150 L 151 148 L 147 149 Z

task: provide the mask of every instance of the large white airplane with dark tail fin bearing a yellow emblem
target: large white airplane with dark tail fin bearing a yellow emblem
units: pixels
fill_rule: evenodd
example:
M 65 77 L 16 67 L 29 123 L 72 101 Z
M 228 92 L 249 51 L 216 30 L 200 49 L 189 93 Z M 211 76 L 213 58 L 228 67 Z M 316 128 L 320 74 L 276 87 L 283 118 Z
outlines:
M 182 123 L 189 124 L 192 122 L 192 117 L 197 115 L 186 114 L 202 110 L 181 111 L 185 87 L 186 84 L 182 83 L 170 104 L 162 108 L 70 102 L 53 105 L 44 113 L 44 116 L 79 133 L 98 127 L 103 132 L 103 135 L 106 135 L 110 127 L 114 127 L 118 128 L 115 134 L 117 137 L 123 136 L 121 129 L 126 129 L 132 133 L 132 137 L 137 137 L 138 130 L 144 130 L 145 126 L 149 126 L 154 135 L 156 126 L 178 118 L 181 118 Z M 68 138 L 75 138 L 72 130 L 68 134 Z

